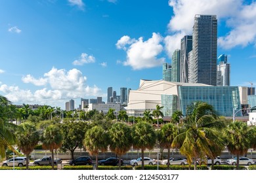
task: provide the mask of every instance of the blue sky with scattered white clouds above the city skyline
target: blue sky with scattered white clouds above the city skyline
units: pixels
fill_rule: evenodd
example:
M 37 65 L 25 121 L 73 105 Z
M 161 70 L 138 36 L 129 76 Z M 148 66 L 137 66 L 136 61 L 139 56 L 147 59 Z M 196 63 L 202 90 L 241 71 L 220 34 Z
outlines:
M 256 1 L 0 1 L 0 95 L 59 106 L 160 80 L 195 14 L 216 14 L 231 85 L 256 85 Z

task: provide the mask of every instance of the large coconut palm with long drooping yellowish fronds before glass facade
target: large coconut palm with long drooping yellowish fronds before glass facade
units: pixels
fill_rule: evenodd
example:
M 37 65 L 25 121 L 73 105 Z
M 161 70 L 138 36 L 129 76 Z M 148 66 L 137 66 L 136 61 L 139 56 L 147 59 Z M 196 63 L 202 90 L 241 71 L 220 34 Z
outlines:
M 184 129 L 173 139 L 173 146 L 180 147 L 181 154 L 186 156 L 189 164 L 194 158 L 194 169 L 196 159 L 203 156 L 213 157 L 210 146 L 218 138 L 215 129 L 223 127 L 216 120 L 215 110 L 207 103 L 198 101 L 186 108 Z

